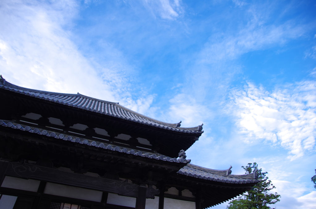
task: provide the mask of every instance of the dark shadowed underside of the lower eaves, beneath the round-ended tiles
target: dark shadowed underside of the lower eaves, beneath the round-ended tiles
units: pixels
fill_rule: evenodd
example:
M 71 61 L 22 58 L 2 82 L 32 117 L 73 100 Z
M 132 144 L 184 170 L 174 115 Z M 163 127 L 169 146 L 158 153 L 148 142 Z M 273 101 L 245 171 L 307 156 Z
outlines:
M 179 166 L 179 163 L 130 156 L 113 150 L 100 151 L 96 147 L 84 144 L 74 146 L 74 143 L 62 139 L 56 143 L 56 139 L 49 140 L 41 135 L 34 137 L 34 133 L 28 132 L 17 134 L 16 129 L 3 128 L 0 131 L 2 158 L 11 158 L 11 161 L 45 159 L 52 161 L 54 167 L 68 167 L 77 173 L 92 172 L 100 176 L 108 171 L 115 171 L 120 178 L 131 179 L 136 183 L 145 177 L 157 182 L 157 188 L 164 184 L 167 187 L 189 189 L 194 195 L 200 195 L 201 208 L 234 198 L 250 190 L 255 184 L 216 182 L 185 176 L 176 173 L 185 164 Z

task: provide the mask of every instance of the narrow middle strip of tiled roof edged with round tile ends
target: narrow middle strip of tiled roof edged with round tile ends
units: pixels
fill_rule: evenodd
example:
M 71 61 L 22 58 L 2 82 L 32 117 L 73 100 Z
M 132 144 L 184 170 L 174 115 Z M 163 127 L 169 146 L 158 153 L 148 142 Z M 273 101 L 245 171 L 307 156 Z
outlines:
M 71 142 L 84 144 L 86 146 L 100 147 L 102 149 L 108 149 L 108 150 L 117 151 L 117 152 L 124 152 L 127 154 L 138 155 L 138 156 L 145 157 L 145 158 L 153 158 L 156 160 L 169 161 L 169 162 L 174 162 L 174 163 L 189 163 L 191 161 L 191 160 L 186 160 L 186 159 L 184 160 L 181 158 L 179 158 L 179 159 L 170 158 L 170 157 L 167 157 L 165 155 L 158 154 L 158 153 L 151 153 L 151 152 L 143 153 L 140 150 L 130 149 L 130 148 L 122 147 L 122 146 L 113 146 L 113 145 L 105 143 L 105 142 L 89 140 L 89 139 L 85 139 L 82 137 L 72 136 L 69 134 L 66 135 L 66 134 L 62 134 L 62 133 L 58 133 L 58 132 L 52 132 L 49 130 L 45 130 L 42 128 L 36 128 L 36 127 L 32 127 L 32 126 L 25 126 L 25 125 L 22 125 L 19 123 L 15 123 L 13 121 L 0 120 L 0 125 L 4 126 L 4 127 L 18 129 L 20 131 L 27 131 L 27 132 L 34 133 L 34 134 L 40 134 L 40 135 L 45 135 L 48 137 L 53 137 L 57 140 L 68 140 Z

